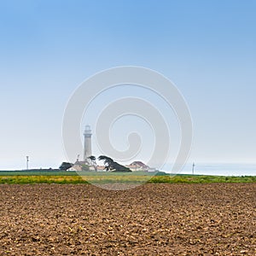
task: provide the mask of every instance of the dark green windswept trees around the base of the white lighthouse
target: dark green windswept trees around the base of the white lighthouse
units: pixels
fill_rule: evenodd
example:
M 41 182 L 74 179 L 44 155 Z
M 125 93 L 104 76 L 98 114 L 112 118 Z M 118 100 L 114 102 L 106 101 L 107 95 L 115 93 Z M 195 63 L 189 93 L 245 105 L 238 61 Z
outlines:
M 97 171 L 97 163 L 96 163 L 96 157 L 94 155 L 91 155 L 90 157 L 91 163 L 94 166 L 95 171 Z M 120 165 L 118 162 L 115 162 L 112 158 L 106 156 L 106 155 L 100 155 L 98 157 L 98 160 L 102 160 L 105 166 L 105 170 L 107 172 L 131 172 L 131 170 L 126 167 Z M 72 167 L 72 163 L 63 162 L 59 169 L 61 171 L 67 171 L 70 167 Z

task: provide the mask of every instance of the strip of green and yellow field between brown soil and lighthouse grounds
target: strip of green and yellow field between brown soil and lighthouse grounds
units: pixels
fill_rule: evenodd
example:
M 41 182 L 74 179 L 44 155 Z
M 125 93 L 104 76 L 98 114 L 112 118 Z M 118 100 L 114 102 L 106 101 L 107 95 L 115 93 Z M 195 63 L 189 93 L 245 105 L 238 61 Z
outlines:
M 155 174 L 155 175 L 154 175 Z M 0 183 L 255 183 L 255 176 L 170 175 L 164 172 L 0 172 Z

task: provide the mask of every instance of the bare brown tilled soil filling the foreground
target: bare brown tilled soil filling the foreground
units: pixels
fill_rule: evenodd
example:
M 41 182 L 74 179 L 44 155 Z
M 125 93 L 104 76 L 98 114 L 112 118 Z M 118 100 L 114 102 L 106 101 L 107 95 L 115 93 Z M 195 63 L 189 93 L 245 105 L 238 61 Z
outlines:
M 0 185 L 0 255 L 256 255 L 256 183 Z

